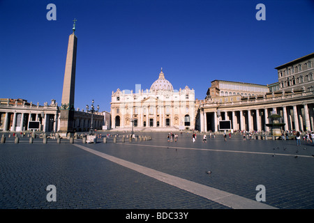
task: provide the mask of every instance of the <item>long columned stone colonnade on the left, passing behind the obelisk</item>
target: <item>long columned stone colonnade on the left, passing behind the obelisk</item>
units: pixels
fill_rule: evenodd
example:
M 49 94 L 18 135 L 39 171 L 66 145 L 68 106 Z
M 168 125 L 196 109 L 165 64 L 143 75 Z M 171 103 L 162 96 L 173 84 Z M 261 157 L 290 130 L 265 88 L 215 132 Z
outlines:
M 60 107 L 56 100 L 51 100 L 44 105 L 36 105 L 24 99 L 0 99 L 0 131 L 24 132 L 29 129 L 29 123 L 39 123 L 38 131 L 58 132 L 60 129 Z M 103 114 L 96 113 L 93 116 L 94 128 L 101 130 L 103 126 Z M 91 127 L 91 113 L 84 110 L 74 111 L 73 130 L 75 132 L 88 131 Z

